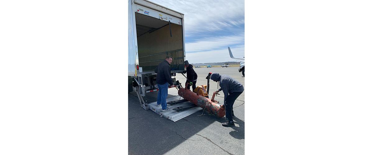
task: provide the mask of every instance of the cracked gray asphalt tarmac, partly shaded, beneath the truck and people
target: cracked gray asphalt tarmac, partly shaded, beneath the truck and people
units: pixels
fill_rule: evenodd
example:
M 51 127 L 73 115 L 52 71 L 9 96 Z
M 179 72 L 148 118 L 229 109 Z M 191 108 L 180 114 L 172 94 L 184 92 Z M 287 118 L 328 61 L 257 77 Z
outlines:
M 238 68 L 197 68 L 195 71 L 198 74 L 197 85 L 207 84 L 207 73 L 218 71 L 222 72 L 219 74 L 229 75 L 244 84 L 244 77 L 238 72 Z M 181 74 L 176 75 L 176 80 L 185 83 L 185 77 Z M 216 88 L 217 83 L 210 81 L 210 94 Z M 177 96 L 176 88 L 169 89 L 167 97 L 173 96 Z M 223 97 L 222 93 L 215 99 L 222 103 Z M 157 92 L 147 93 L 144 99 L 156 101 Z M 206 112 L 206 115 L 199 116 L 202 110 L 176 122 L 161 118 L 151 110 L 142 109 L 135 92 L 132 92 L 128 94 L 128 154 L 244 154 L 244 100 L 242 93 L 233 105 L 236 126 L 223 127 L 221 123 L 225 122 L 225 117 L 219 118 Z

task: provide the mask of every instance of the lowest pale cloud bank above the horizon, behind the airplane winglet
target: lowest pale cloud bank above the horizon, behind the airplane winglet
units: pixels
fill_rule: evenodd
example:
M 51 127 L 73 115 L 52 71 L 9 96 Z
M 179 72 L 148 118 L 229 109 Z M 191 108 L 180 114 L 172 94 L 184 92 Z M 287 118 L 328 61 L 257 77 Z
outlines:
M 236 48 L 231 48 L 233 56 L 236 58 L 241 58 L 245 56 L 245 47 L 244 45 L 238 46 Z M 198 63 L 209 63 L 209 62 L 227 62 L 227 61 L 236 61 L 241 62 L 244 60 L 232 59 L 229 56 L 228 47 L 219 50 L 211 50 L 205 52 L 194 52 L 186 53 L 186 60 L 191 64 Z

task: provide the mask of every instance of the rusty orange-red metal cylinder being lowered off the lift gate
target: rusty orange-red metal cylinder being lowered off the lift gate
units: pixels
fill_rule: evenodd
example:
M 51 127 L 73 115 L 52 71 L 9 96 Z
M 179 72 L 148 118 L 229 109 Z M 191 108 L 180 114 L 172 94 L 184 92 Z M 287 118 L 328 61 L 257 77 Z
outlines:
M 209 113 L 214 114 L 217 117 L 225 116 L 225 107 L 223 107 L 223 105 L 219 103 L 213 102 L 210 99 L 207 99 L 206 97 L 203 97 L 185 88 L 180 88 L 178 94 L 184 99 L 194 103 L 201 108 L 204 108 Z

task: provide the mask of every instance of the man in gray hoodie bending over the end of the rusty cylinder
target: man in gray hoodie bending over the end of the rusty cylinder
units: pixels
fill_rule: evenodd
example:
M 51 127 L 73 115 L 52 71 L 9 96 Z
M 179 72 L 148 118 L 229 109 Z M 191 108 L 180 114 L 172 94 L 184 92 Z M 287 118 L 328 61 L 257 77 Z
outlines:
M 227 122 L 222 123 L 223 126 L 235 126 L 232 113 L 233 113 L 233 104 L 234 101 L 238 98 L 239 95 L 244 91 L 244 86 L 239 83 L 234 78 L 228 75 L 219 75 L 219 73 L 211 74 L 211 80 L 220 83 L 220 89 L 217 91 L 222 91 L 224 93 L 224 106 L 225 106 L 225 118 Z

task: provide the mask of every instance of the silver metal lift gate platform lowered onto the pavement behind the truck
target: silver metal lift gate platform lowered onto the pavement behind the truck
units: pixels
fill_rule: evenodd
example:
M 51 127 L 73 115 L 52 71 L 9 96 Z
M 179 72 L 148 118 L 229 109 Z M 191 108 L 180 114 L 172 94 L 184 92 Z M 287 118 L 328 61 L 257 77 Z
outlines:
M 169 102 L 169 101 L 175 101 L 175 100 L 182 100 L 183 98 L 180 97 L 180 96 L 175 96 L 175 97 L 170 97 L 168 99 L 166 99 L 166 102 Z M 186 116 L 189 116 L 193 113 L 196 113 L 200 110 L 202 110 L 201 107 L 192 107 L 190 109 L 187 109 L 187 110 L 184 110 L 184 111 L 180 111 L 180 112 L 177 112 L 176 110 L 172 110 L 173 108 L 175 107 L 180 107 L 180 106 L 190 106 L 190 105 L 194 105 L 193 103 L 191 102 L 185 102 L 185 103 L 179 103 L 179 104 L 174 104 L 174 105 L 170 105 L 170 104 L 167 104 L 167 107 L 170 108 L 171 110 L 169 111 L 166 111 L 166 112 L 161 112 L 162 110 L 162 106 L 159 106 L 157 107 L 157 101 L 155 102 L 152 102 L 150 104 L 148 104 L 148 107 L 149 109 L 153 110 L 153 112 L 156 112 L 157 114 L 159 114 L 161 117 L 165 117 L 169 120 L 172 120 L 173 122 L 176 122 Z

